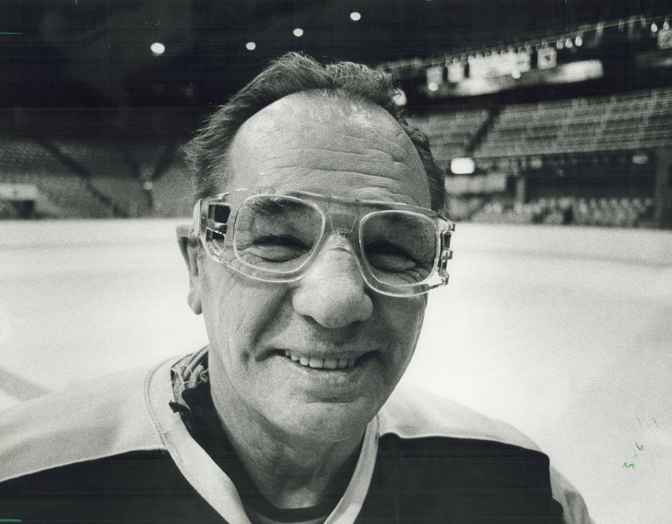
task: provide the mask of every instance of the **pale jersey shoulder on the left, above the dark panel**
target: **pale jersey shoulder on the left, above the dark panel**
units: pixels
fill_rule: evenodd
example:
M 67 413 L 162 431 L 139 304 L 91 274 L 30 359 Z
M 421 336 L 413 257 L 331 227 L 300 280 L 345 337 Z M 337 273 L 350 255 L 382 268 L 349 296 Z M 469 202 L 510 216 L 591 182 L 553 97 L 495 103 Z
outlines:
M 0 413 L 0 482 L 129 451 L 163 449 L 146 398 L 156 366 L 89 380 Z

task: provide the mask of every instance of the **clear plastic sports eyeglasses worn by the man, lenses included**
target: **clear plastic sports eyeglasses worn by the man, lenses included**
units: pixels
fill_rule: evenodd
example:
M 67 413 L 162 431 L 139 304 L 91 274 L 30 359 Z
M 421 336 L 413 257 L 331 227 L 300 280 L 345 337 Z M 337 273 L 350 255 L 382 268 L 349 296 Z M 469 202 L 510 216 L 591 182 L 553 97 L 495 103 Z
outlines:
M 296 281 L 329 245 L 351 253 L 367 285 L 389 296 L 448 283 L 454 229 L 425 208 L 275 189 L 199 200 L 193 222 L 211 259 L 253 279 Z

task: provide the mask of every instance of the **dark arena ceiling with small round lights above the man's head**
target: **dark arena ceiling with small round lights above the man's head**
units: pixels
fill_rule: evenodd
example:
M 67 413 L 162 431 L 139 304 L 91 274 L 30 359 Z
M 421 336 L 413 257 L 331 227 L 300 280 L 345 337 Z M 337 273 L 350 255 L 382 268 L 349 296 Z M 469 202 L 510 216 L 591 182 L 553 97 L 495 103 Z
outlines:
M 5 0 L 0 107 L 204 107 L 290 50 L 376 64 L 667 8 L 592 0 Z

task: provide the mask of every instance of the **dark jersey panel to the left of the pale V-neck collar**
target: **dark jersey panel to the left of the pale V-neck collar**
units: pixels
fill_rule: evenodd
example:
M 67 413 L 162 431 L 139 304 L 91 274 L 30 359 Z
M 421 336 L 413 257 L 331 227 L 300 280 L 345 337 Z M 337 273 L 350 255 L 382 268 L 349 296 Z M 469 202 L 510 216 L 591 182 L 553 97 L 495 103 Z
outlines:
M 1 482 L 0 518 L 22 523 L 224 522 L 165 451 L 132 451 Z

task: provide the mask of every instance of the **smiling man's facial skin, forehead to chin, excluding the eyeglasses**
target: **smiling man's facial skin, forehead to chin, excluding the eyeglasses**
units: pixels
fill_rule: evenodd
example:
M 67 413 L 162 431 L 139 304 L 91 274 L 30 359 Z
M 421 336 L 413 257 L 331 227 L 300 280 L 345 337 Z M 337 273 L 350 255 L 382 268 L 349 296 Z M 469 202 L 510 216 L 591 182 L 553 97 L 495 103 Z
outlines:
M 229 153 L 222 191 L 274 187 L 429 207 L 413 144 L 372 104 L 290 95 L 247 120 Z M 353 255 L 329 244 L 292 283 L 256 281 L 190 249 L 198 261 L 190 302 L 204 313 L 220 414 L 317 441 L 361 434 L 413 355 L 425 296 L 373 292 Z M 339 359 L 355 363 L 311 366 Z

